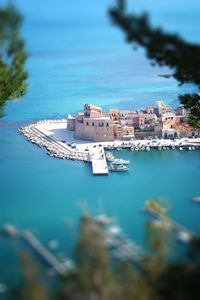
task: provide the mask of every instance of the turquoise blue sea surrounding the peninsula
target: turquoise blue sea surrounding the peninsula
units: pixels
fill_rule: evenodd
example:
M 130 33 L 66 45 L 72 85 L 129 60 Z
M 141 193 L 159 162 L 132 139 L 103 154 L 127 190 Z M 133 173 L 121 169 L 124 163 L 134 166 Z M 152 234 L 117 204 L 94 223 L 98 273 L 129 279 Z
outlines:
M 0 225 L 31 228 L 44 243 L 59 239 L 59 251 L 71 255 L 80 214 L 104 210 L 144 245 L 146 216 L 140 209 L 160 196 L 171 203 L 175 220 L 200 234 L 200 207 L 191 203 L 200 195 L 199 151 L 123 151 L 120 156 L 131 160 L 128 174 L 93 177 L 90 165 L 49 157 L 17 134 L 26 121 L 65 117 L 85 101 L 105 111 L 137 109 L 158 99 L 176 107 L 178 94 L 195 87 L 157 77 L 170 70 L 152 68 L 143 50 L 132 51 L 108 19 L 113 1 L 16 3 L 25 15 L 29 78 L 26 95 L 7 104 L 0 125 Z M 154 25 L 200 41 L 198 1 L 134 3 L 137 12 L 150 11 Z M 0 238 L 0 282 L 18 276 L 16 249 L 14 241 Z

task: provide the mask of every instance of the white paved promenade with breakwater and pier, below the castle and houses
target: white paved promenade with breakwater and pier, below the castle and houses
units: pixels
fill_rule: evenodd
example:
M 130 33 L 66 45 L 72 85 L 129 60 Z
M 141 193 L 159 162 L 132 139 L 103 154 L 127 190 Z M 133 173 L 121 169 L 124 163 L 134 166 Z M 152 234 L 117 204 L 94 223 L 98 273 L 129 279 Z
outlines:
M 50 156 L 91 162 L 94 175 L 108 174 L 104 151 L 106 148 L 122 148 L 131 151 L 149 151 L 150 149 L 195 150 L 200 148 L 200 138 L 89 142 L 75 139 L 74 132 L 68 131 L 66 127 L 66 119 L 42 120 L 18 129 L 18 132 L 26 136 L 32 143 L 45 147 Z

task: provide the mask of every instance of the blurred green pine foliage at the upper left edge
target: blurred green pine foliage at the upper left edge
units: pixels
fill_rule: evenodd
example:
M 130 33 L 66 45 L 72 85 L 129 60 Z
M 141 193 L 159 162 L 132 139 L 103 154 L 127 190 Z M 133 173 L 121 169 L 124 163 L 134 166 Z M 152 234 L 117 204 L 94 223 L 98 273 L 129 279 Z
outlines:
M 6 101 L 21 97 L 27 86 L 21 23 L 22 16 L 13 5 L 0 6 L 0 117 Z

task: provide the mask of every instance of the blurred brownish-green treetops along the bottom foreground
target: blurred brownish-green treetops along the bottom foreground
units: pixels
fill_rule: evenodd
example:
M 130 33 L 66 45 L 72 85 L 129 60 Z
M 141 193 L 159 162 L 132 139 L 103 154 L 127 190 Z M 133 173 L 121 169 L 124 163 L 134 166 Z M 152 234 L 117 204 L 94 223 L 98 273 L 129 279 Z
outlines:
M 160 200 L 151 205 L 162 206 Z M 158 204 L 160 203 L 160 204 Z M 161 211 L 163 211 L 161 209 Z M 189 300 L 200 298 L 199 241 L 190 247 L 185 260 L 169 262 L 172 242 L 169 227 L 147 221 L 149 247 L 139 265 L 114 260 L 105 246 L 105 232 L 94 219 L 83 215 L 75 251 L 76 268 L 56 291 L 44 284 L 41 272 L 26 255 L 21 257 L 24 282 L 15 291 L 19 300 Z

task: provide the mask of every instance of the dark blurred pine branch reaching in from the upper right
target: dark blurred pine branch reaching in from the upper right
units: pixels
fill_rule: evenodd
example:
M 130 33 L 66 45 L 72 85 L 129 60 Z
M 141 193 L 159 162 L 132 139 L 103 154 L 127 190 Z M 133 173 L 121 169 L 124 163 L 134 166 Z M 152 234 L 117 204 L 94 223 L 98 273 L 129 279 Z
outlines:
M 200 45 L 184 41 L 176 34 L 153 28 L 147 14 L 137 16 L 128 13 L 126 0 L 117 0 L 117 5 L 109 10 L 109 15 L 126 35 L 126 41 L 133 49 L 141 46 L 147 57 L 159 66 L 168 66 L 180 85 L 193 83 L 200 89 Z M 180 95 L 181 104 L 189 111 L 188 123 L 200 127 L 200 95 Z

